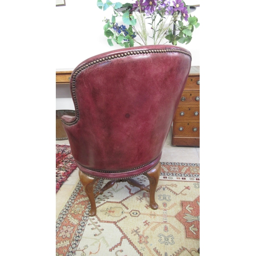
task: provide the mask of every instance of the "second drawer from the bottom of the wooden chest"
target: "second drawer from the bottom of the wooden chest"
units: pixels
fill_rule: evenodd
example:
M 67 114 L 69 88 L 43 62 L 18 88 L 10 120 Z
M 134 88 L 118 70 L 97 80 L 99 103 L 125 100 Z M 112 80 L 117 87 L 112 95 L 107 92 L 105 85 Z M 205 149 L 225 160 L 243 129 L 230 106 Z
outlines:
M 200 117 L 199 112 L 199 106 L 179 106 L 176 115 L 175 120 L 176 121 L 186 121 L 186 120 L 192 120 L 192 121 L 199 121 Z

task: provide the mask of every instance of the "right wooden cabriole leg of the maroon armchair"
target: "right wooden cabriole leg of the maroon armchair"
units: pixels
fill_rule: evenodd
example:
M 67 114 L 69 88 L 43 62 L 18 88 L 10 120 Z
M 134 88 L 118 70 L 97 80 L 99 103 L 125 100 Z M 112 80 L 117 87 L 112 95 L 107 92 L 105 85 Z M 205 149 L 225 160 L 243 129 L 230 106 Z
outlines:
M 158 208 L 158 204 L 155 201 L 155 193 L 156 193 L 156 188 L 159 180 L 161 172 L 161 164 L 160 162 L 154 167 L 153 169 L 149 170 L 147 173 L 144 175 L 150 180 L 150 207 L 153 210 L 156 210 Z

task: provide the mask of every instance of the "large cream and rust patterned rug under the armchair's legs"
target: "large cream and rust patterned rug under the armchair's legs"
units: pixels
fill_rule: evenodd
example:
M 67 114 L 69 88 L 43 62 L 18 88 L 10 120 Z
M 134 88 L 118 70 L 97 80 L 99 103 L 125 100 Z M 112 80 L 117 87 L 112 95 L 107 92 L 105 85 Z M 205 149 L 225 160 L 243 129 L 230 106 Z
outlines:
M 120 182 L 97 197 L 94 217 L 78 182 L 56 221 L 56 256 L 200 255 L 199 175 L 199 164 L 161 162 L 157 210 L 149 193 Z M 143 175 L 134 179 L 149 186 Z

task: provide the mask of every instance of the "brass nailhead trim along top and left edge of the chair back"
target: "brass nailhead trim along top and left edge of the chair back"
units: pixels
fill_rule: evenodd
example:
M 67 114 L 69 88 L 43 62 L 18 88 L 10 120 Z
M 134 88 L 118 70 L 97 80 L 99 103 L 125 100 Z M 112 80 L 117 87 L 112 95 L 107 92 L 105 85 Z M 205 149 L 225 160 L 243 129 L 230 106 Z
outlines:
M 96 59 L 94 61 L 91 61 L 90 63 L 86 63 L 83 66 L 81 66 L 80 68 L 78 68 L 78 70 L 75 71 L 75 73 L 73 74 L 73 76 L 71 77 L 71 81 L 72 81 L 72 95 L 74 98 L 74 104 L 75 104 L 75 111 L 76 111 L 76 119 L 75 121 L 71 122 L 71 123 L 67 123 L 65 121 L 62 121 L 63 123 L 67 124 L 67 125 L 73 125 L 75 123 L 78 122 L 79 120 L 79 110 L 78 110 L 78 104 L 76 101 L 76 94 L 75 94 L 75 79 L 76 76 L 84 69 L 89 68 L 90 66 L 93 66 L 99 62 L 108 60 L 108 59 L 114 59 L 114 58 L 121 58 L 121 57 L 126 57 L 126 56 L 130 56 L 130 55 L 136 55 L 136 54 L 147 54 L 147 53 L 164 53 L 164 52 L 178 52 L 178 53 L 183 53 L 185 55 L 188 55 L 190 58 L 192 58 L 191 54 L 187 51 L 183 51 L 183 50 L 179 50 L 179 49 L 154 49 L 154 50 L 140 50 L 140 51 L 128 51 L 125 53 L 121 53 L 118 55 L 111 55 L 111 56 L 106 56 L 100 59 Z

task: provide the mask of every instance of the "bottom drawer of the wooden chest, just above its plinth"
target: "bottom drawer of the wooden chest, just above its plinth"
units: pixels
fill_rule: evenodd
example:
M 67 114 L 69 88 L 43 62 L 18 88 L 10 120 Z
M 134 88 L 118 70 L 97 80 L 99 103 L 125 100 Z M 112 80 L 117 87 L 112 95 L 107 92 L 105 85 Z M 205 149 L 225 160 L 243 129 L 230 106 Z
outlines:
M 200 126 L 199 121 L 177 121 L 173 126 L 173 136 L 179 137 L 199 137 Z M 194 131 L 195 129 L 195 131 Z

